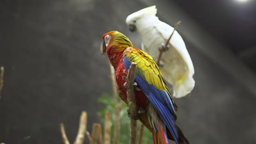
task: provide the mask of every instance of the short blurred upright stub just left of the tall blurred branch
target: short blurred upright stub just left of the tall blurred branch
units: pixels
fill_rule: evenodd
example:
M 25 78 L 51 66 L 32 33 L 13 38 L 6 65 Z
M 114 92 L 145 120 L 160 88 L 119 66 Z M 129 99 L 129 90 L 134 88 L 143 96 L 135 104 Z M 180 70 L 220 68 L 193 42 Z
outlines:
M 104 144 L 110 144 L 110 121 L 111 121 L 111 113 L 107 111 L 105 113 L 105 122 L 104 122 Z

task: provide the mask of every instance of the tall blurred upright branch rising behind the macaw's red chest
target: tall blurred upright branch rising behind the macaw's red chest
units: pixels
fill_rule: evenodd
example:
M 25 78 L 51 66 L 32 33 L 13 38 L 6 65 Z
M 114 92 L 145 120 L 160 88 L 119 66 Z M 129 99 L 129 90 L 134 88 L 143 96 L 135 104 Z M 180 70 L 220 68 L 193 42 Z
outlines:
M 118 92 L 117 92 L 117 84 L 115 82 L 115 70 L 110 65 L 110 73 L 111 73 L 111 81 L 112 81 L 112 88 L 113 88 L 113 99 L 114 99 L 114 144 L 119 144 L 119 137 L 120 137 L 120 111 L 123 107 L 123 101 L 118 101 Z

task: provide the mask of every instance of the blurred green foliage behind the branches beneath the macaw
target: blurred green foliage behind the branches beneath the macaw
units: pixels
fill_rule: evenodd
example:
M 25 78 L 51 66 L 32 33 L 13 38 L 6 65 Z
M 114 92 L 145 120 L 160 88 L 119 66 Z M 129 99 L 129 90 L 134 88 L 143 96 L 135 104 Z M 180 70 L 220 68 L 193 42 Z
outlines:
M 98 98 L 100 103 L 103 103 L 102 107 L 100 107 L 100 111 L 98 112 L 98 116 L 101 119 L 101 123 L 104 124 L 104 117 L 107 111 L 111 112 L 111 143 L 113 143 L 114 139 L 114 100 L 113 96 L 107 93 L 103 93 L 100 98 Z M 120 112 L 120 144 L 127 144 L 130 142 L 130 118 L 127 116 L 126 109 L 128 109 L 127 105 L 124 104 L 121 112 Z M 139 125 L 140 122 L 137 121 L 137 140 L 139 139 Z M 143 139 L 142 143 L 153 143 L 152 133 L 144 127 Z

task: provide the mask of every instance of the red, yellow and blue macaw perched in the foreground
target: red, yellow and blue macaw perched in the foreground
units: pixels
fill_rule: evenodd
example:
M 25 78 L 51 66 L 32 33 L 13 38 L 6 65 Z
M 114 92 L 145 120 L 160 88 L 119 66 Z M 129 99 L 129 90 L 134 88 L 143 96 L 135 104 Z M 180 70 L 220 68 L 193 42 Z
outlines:
M 138 119 L 153 133 L 154 143 L 189 143 L 175 124 L 177 106 L 166 86 L 158 65 L 146 52 L 132 47 L 131 41 L 117 31 L 103 34 L 101 52 L 106 53 L 115 69 L 115 80 L 119 96 L 127 104 L 127 89 L 123 76 L 127 76 L 132 62 L 137 63 L 135 92 Z M 168 137 L 168 139 L 167 139 Z

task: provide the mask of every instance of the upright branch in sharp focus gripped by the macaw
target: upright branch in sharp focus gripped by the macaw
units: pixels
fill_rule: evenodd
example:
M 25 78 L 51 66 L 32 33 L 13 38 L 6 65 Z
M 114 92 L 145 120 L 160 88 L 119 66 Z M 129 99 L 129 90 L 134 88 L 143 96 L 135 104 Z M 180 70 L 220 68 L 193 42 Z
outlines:
M 129 107 L 129 113 L 131 116 L 131 130 L 130 130 L 130 144 L 136 143 L 136 136 L 137 136 L 137 122 L 136 119 L 138 116 L 137 108 L 136 108 L 136 101 L 135 101 L 135 70 L 137 67 L 137 63 L 131 63 L 131 67 L 129 69 L 127 77 L 123 77 L 123 79 L 127 82 L 127 101 Z

